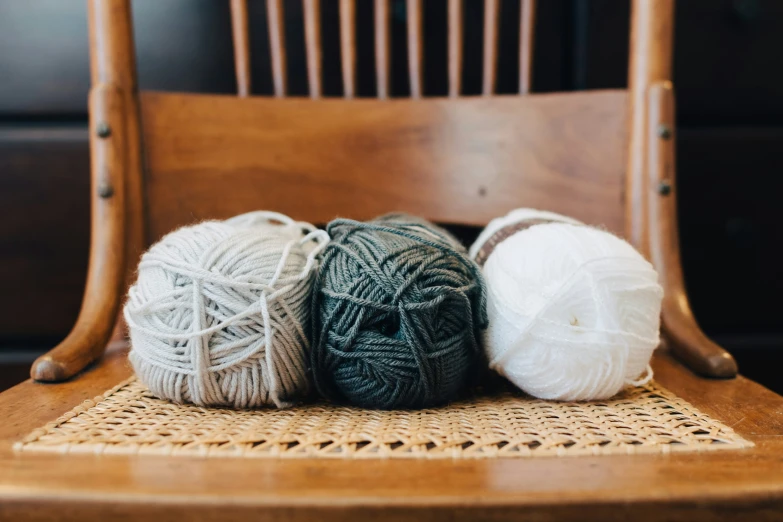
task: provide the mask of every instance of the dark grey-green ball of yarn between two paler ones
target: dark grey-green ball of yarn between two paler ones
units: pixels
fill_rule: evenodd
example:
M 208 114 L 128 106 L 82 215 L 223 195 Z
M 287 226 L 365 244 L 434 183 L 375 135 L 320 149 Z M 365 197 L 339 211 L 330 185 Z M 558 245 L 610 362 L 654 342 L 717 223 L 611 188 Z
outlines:
M 420 408 L 480 373 L 485 289 L 446 231 L 407 215 L 327 226 L 316 283 L 314 381 L 333 400 Z

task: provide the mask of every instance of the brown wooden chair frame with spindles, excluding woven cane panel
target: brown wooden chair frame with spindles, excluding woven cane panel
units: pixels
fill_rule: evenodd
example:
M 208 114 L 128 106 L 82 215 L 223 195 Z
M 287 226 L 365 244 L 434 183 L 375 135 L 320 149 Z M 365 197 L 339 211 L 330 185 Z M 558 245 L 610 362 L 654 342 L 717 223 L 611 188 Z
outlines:
M 375 1 L 377 99 L 355 98 L 353 0 L 339 4 L 346 99 L 321 96 L 318 0 L 303 0 L 312 99 L 286 97 L 287 2 L 266 3 L 275 97 L 265 98 L 249 96 L 246 0 L 231 2 L 236 97 L 138 92 L 129 0 L 90 0 L 89 276 L 68 338 L 36 361 L 34 381 L 0 394 L 7 419 L 0 518 L 707 520 L 722 509 L 771 517 L 783 508 L 783 398 L 742 377 L 697 377 L 669 356 L 701 376 L 736 375 L 731 356 L 697 326 L 683 287 L 670 82 L 674 1 L 633 0 L 627 90 L 544 95 L 528 95 L 534 2 L 521 1 L 519 95 L 493 96 L 499 2 L 486 0 L 483 96 L 460 97 L 462 2 L 449 0 L 449 96 L 423 98 L 422 2 L 407 0 L 411 97 L 389 100 L 387 0 Z M 11 450 L 33 428 L 129 375 L 122 335 L 110 343 L 122 296 L 140 252 L 179 225 L 258 208 L 316 223 L 405 210 L 483 225 L 521 206 L 604 225 L 651 258 L 666 291 L 667 349 L 654 360 L 656 378 L 756 448 L 371 466 Z

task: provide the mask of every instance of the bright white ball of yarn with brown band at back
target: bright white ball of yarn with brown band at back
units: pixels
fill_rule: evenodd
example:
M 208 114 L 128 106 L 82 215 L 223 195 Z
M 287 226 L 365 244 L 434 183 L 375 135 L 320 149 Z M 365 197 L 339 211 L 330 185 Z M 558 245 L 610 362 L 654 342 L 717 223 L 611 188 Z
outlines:
M 516 386 L 593 400 L 652 377 L 663 290 L 627 242 L 520 209 L 490 223 L 471 255 L 487 282 L 487 358 Z

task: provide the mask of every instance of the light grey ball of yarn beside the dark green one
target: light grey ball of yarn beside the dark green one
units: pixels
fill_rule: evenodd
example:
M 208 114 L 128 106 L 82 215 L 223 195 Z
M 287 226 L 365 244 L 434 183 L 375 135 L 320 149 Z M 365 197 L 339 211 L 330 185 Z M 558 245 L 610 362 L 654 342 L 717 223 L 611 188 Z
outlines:
M 180 228 L 141 258 L 123 310 L 136 375 L 160 398 L 285 406 L 309 386 L 323 230 L 273 212 Z

